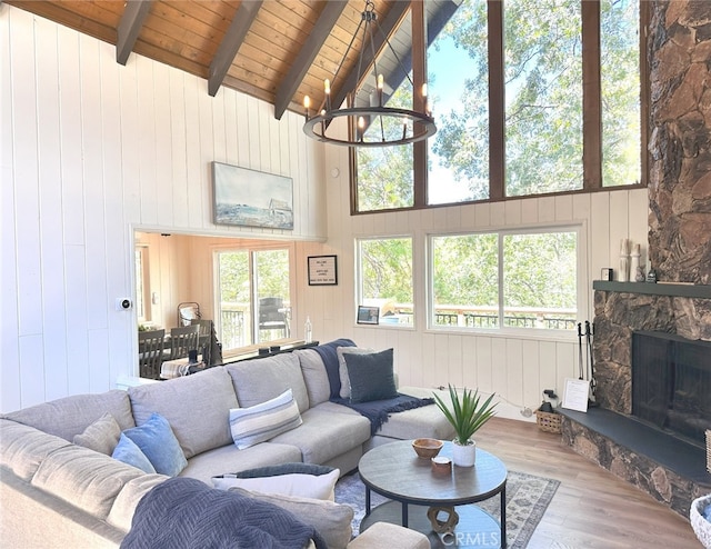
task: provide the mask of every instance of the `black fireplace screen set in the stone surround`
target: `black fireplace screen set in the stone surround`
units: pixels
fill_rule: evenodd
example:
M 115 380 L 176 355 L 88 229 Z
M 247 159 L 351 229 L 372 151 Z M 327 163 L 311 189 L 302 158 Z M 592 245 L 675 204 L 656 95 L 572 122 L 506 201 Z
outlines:
M 632 415 L 704 445 L 711 428 L 711 342 L 634 332 Z

